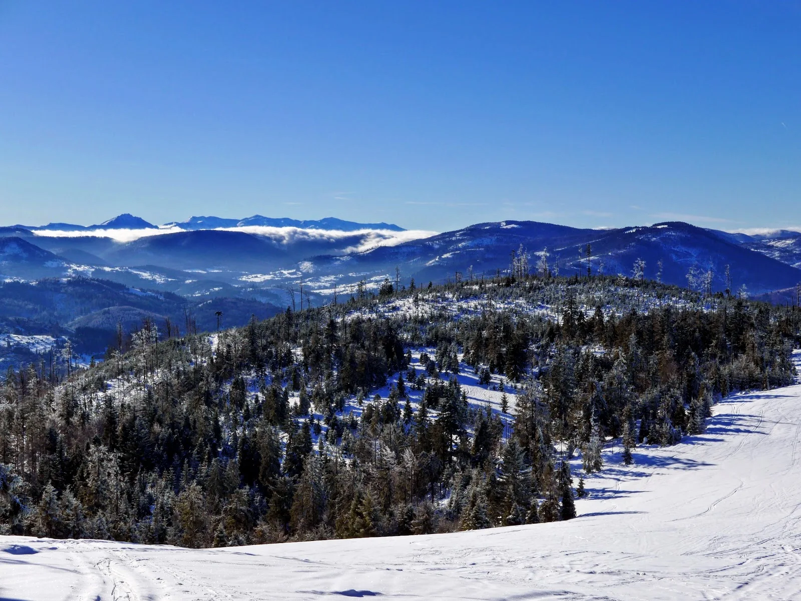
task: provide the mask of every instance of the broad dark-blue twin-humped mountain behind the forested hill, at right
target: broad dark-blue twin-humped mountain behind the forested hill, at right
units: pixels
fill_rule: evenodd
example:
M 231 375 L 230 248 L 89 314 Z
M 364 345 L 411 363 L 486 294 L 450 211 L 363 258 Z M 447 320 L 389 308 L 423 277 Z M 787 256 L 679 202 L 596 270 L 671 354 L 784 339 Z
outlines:
M 479 223 L 432 238 L 380 247 L 347 258 L 320 257 L 312 262 L 316 273 L 342 270 L 388 273 L 400 266 L 418 282 L 509 270 L 511 254 L 522 247 L 529 254 L 529 270 L 547 249 L 552 270 L 562 275 L 586 274 L 586 245 L 590 244 L 592 273 L 632 275 L 634 262 L 646 262 L 645 277 L 686 286 L 690 269 L 712 270 L 713 289 L 724 290 L 727 265 L 735 288 L 745 284 L 752 292 L 794 286 L 801 270 L 755 252 L 735 240 L 683 222 L 634 226 L 614 230 L 582 230 L 549 223 L 505 221 Z M 662 270 L 658 263 L 662 262 Z

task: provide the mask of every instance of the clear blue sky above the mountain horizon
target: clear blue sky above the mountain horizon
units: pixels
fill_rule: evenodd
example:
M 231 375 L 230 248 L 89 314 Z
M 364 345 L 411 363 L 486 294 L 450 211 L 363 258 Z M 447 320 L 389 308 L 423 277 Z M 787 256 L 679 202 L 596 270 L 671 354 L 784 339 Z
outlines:
M 5 224 L 799 206 L 801 2 L 0 0 Z

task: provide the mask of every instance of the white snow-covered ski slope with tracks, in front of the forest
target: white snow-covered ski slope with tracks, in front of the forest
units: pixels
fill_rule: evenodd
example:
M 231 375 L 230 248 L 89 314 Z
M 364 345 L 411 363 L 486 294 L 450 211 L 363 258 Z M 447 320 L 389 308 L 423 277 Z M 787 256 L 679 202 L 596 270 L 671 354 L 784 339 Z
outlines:
M 801 599 L 801 386 L 714 411 L 634 465 L 606 449 L 570 522 L 201 551 L 6 536 L 0 599 Z

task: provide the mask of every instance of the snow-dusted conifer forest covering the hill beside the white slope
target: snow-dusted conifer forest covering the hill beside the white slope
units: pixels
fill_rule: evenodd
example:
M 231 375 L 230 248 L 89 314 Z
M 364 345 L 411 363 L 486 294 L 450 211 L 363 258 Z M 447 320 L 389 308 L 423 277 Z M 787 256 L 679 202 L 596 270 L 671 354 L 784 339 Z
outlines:
M 794 375 L 797 307 L 547 272 L 398 283 L 10 369 L 0 533 L 219 547 L 571 519 L 604 447 L 631 463 Z

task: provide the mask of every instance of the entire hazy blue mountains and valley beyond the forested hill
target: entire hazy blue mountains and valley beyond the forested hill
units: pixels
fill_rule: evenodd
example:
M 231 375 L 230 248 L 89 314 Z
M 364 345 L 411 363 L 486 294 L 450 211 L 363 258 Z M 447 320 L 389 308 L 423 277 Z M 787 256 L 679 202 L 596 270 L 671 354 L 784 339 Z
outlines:
M 386 223 L 259 215 L 165 225 L 123 214 L 74 226 L 79 230 L 62 223 L 0 227 L 0 282 L 8 282 L 5 297 L 0 294 L 0 333 L 80 331 L 88 349 L 87 341 L 107 339 L 115 323 L 132 327 L 145 315 L 178 319 L 184 306 L 195 307 L 203 327 L 215 323 L 214 311 L 223 311 L 228 325 L 242 325 L 251 314 L 284 309 L 287 289 L 300 283 L 319 305 L 335 289 L 347 294 L 356 282 L 375 288 L 387 276 L 393 280 L 396 268 L 407 286 L 411 278 L 425 284 L 457 273 L 506 273 L 521 250 L 529 270 L 545 256 L 552 272 L 568 276 L 586 274 L 588 267 L 594 274 L 631 276 L 639 259 L 646 278 L 699 286 L 709 274 L 713 290 L 724 290 L 728 272 L 734 290 L 744 285 L 775 303 L 795 299 L 801 282 L 801 233 L 789 230 L 747 235 L 684 222 L 590 230 L 502 221 L 422 237 Z M 130 241 L 95 234 L 114 229 L 155 232 Z M 58 230 L 70 234 L 53 234 Z

